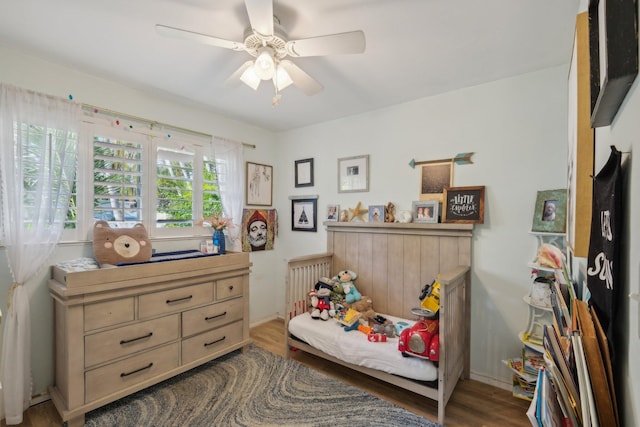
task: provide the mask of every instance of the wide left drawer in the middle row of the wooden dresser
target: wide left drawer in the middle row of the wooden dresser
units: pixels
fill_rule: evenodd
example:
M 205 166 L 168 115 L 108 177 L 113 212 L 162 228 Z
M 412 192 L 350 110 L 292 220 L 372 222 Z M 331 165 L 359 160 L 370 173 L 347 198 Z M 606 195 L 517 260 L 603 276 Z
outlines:
M 179 314 L 87 335 L 84 338 L 84 365 L 89 367 L 107 362 L 178 339 L 179 336 Z

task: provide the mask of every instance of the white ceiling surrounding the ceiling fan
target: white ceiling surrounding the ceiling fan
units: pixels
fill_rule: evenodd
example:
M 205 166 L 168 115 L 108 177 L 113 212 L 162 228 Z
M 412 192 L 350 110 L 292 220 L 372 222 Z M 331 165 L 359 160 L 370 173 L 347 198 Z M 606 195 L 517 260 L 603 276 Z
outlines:
M 289 39 L 363 30 L 359 55 L 293 58 L 324 85 L 224 86 L 246 52 L 156 33 L 243 41 L 243 0 L 1 0 L 0 43 L 280 131 L 567 64 L 579 0 L 274 0 Z M 2 59 L 0 58 L 0 62 Z M 80 97 L 79 97 L 80 98 Z M 107 107 L 108 106 L 104 106 Z

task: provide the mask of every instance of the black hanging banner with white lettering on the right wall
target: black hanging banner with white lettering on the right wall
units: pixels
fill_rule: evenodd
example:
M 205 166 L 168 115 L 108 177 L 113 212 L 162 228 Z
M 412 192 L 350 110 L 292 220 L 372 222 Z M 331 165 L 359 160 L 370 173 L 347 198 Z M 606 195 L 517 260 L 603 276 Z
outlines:
M 613 325 L 620 277 L 622 227 L 622 153 L 611 146 L 609 160 L 593 180 L 591 240 L 587 259 L 587 286 L 591 305 L 609 340 L 612 358 Z

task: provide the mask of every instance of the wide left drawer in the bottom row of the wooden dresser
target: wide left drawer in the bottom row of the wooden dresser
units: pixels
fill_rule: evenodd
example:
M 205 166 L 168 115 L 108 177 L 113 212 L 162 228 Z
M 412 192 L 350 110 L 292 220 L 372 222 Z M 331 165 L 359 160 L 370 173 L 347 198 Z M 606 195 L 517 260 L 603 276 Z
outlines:
M 85 402 L 91 402 L 178 367 L 173 343 L 85 373 Z

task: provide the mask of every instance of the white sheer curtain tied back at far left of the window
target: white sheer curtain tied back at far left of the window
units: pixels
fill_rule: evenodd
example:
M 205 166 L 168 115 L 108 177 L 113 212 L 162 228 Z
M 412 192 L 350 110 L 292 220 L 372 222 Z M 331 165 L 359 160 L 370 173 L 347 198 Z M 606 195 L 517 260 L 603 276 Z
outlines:
M 46 266 L 64 228 L 76 168 L 79 104 L 0 84 L 0 241 L 13 284 L 2 342 L 6 423 L 31 401 L 31 328 L 25 283 Z

